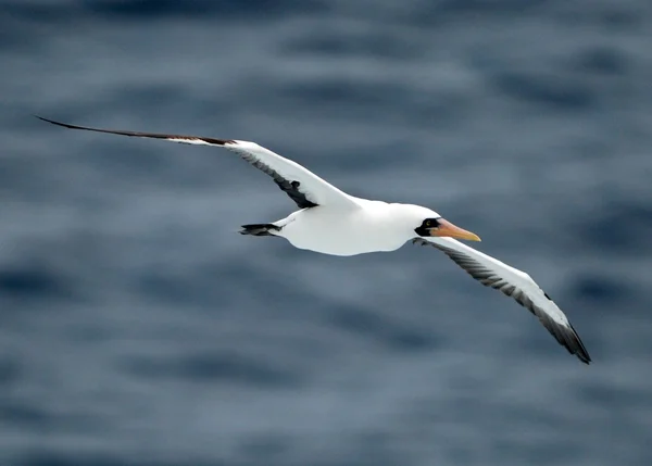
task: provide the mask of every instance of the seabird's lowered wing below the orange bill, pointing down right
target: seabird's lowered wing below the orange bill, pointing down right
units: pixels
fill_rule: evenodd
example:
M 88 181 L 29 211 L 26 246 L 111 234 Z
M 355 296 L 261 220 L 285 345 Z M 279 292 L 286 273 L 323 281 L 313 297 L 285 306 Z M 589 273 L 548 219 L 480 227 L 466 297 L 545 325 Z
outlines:
M 452 238 L 418 237 L 413 240 L 413 243 L 427 244 L 443 251 L 480 284 L 514 298 L 518 304 L 536 315 L 543 327 L 570 354 L 575 354 L 582 363 L 591 362 L 587 349 L 566 315 L 525 272 L 511 267 Z

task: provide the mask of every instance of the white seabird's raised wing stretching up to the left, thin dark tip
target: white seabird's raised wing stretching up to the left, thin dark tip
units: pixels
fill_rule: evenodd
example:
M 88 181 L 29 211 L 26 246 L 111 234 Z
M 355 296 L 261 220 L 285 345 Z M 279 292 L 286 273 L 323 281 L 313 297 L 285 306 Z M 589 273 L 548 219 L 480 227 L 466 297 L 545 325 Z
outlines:
M 271 176 L 274 182 L 287 193 L 301 209 L 317 205 L 339 205 L 355 209 L 358 203 L 354 199 L 340 191 L 335 186 L 319 178 L 314 173 L 302 167 L 297 162 L 288 160 L 277 153 L 265 149 L 255 142 L 238 141 L 234 139 L 204 138 L 201 136 L 166 135 L 158 133 L 140 133 L 113 129 L 91 128 L 87 126 L 68 125 L 52 119 L 37 116 L 43 122 L 63 126 L 72 129 L 84 129 L 87 131 L 109 133 L 112 135 L 133 136 L 137 138 L 163 139 L 172 142 L 199 146 L 217 146 L 237 153 L 247 162 L 261 172 Z

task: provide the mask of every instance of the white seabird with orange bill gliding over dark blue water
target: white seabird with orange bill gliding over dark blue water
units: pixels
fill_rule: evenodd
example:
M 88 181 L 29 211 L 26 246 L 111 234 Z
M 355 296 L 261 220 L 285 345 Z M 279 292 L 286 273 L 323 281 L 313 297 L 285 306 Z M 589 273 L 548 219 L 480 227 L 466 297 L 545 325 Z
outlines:
M 531 312 L 579 361 L 585 364 L 591 362 L 564 312 L 528 274 L 459 241 L 480 241 L 480 238 L 428 207 L 348 194 L 297 162 L 255 142 L 102 129 L 35 116 L 70 129 L 213 146 L 234 152 L 268 175 L 298 206 L 296 212 L 276 222 L 242 225 L 241 235 L 285 238 L 294 248 L 338 256 L 396 251 L 408 242 L 432 247 L 484 286 L 500 290 Z

